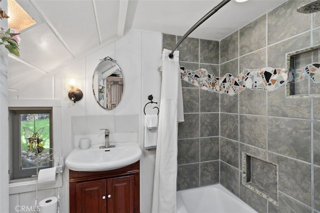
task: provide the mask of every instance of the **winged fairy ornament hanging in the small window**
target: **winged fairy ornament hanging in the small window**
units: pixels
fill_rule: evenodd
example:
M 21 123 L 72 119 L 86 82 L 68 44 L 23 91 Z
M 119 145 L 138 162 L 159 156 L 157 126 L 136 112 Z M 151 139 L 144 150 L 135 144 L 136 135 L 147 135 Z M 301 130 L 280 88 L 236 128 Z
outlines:
M 24 138 L 26 140 L 26 145 L 30 151 L 33 151 L 36 155 L 41 152 L 44 147 L 42 146 L 42 138 L 39 138 L 40 134 L 43 131 L 43 128 L 40 128 L 36 132 L 32 131 L 28 127 L 23 127 L 24 129 Z

